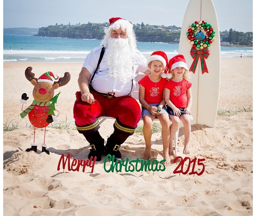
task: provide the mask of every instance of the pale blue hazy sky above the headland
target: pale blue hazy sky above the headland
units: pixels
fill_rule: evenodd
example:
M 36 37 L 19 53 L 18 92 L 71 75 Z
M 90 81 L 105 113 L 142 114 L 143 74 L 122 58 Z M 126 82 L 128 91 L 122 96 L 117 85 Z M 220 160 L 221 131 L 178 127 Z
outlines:
M 212 0 L 220 31 L 252 32 L 252 0 Z M 108 22 L 121 17 L 133 24 L 182 26 L 189 0 L 4 0 L 4 28 Z M 161 4 L 160 4 L 161 3 Z

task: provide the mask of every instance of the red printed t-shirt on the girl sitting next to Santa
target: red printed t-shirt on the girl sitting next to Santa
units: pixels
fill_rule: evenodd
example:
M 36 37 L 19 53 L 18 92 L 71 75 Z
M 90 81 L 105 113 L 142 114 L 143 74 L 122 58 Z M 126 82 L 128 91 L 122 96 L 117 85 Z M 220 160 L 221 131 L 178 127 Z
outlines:
M 146 100 L 148 104 L 161 103 L 163 100 L 164 85 L 167 83 L 166 79 L 161 77 L 159 82 L 154 83 L 147 75 L 138 83 L 145 88 L 144 100 Z

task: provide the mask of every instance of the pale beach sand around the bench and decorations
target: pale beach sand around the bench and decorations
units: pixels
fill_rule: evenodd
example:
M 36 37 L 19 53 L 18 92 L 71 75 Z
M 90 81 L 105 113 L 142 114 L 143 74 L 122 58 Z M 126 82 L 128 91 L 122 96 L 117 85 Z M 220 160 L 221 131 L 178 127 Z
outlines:
M 215 128 L 193 125 L 191 159 L 204 158 L 204 173 L 174 174 L 178 163 L 165 171 L 105 172 L 104 159 L 94 171 L 57 171 L 60 156 L 69 152 L 73 159 L 87 159 L 89 144 L 76 130 L 46 128 L 50 155 L 25 152 L 34 130 L 21 120 L 20 96 L 26 92 L 32 102 L 33 86 L 24 71 L 33 67 L 36 76 L 46 71 L 71 74 L 61 91 L 56 109 L 58 121 L 73 126 L 73 104 L 82 63 L 4 63 L 4 123 L 19 122 L 23 128 L 4 132 L 4 215 L 252 215 L 252 112 L 218 116 Z M 15 77 L 15 79 L 14 79 Z M 252 58 L 222 58 L 219 109 L 252 109 Z M 113 132 L 114 120 L 100 127 L 105 139 Z M 142 122 L 139 123 L 140 126 Z M 36 130 L 42 143 L 44 130 Z M 183 128 L 180 128 L 178 155 L 182 154 Z M 142 158 L 143 135 L 134 134 L 120 148 L 123 158 Z M 153 159 L 162 160 L 161 132 L 152 136 Z M 185 163 L 183 170 L 188 166 Z M 108 166 L 109 167 L 109 166 Z M 202 166 L 196 165 L 201 172 Z M 200 169 L 200 170 L 199 170 Z M 190 168 L 191 171 L 191 168 Z

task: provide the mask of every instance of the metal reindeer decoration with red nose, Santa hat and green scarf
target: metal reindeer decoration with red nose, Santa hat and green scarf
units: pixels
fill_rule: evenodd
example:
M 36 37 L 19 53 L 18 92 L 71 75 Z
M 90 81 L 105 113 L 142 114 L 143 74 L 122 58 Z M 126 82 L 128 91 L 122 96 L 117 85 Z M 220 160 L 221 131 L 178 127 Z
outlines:
M 37 151 L 37 143 L 35 142 L 35 134 L 36 134 L 36 127 L 44 128 L 44 143 L 42 143 L 42 152 L 47 153 L 48 155 L 50 152 L 46 150 L 45 144 L 45 130 L 46 126 L 53 121 L 56 121 L 57 118 L 54 114 L 55 110 L 55 103 L 60 95 L 60 92 L 54 95 L 54 90 L 59 88 L 60 86 L 66 85 L 70 80 L 70 73 L 65 72 L 64 77 L 60 77 L 57 74 L 55 77 L 52 72 L 48 71 L 40 76 L 38 79 L 35 78 L 35 74 L 32 73 L 32 67 L 28 67 L 25 71 L 25 76 L 32 85 L 34 85 L 33 89 L 33 100 L 32 104 L 26 108 L 25 110 L 20 113 L 21 118 L 24 118 L 28 115 L 30 123 L 35 127 L 34 130 L 34 142 L 31 143 L 31 148 L 27 148 L 26 151 Z M 58 81 L 52 81 L 52 78 Z M 23 93 L 21 96 L 20 103 L 27 104 L 27 94 Z

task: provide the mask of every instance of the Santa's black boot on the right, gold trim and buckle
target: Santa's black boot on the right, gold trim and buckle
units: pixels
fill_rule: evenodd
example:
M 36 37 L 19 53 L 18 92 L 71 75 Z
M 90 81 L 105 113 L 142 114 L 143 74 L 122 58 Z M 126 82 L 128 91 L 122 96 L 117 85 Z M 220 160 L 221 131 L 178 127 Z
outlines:
M 105 146 L 105 155 L 114 155 L 115 161 L 120 161 L 122 154 L 119 151 L 119 148 L 121 144 L 133 134 L 135 129 L 136 127 L 132 128 L 121 124 L 117 118 L 114 123 L 114 132 L 108 138 Z

